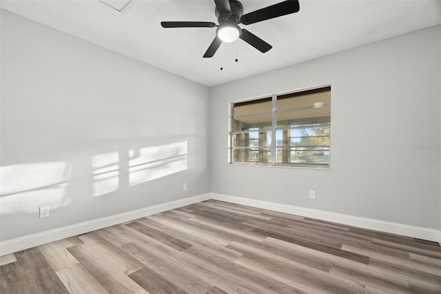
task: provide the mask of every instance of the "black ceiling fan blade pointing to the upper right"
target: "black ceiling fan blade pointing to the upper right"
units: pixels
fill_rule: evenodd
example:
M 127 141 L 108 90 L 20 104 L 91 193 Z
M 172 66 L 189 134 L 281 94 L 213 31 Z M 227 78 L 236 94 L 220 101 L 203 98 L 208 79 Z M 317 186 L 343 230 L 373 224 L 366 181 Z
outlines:
M 298 12 L 298 10 L 300 10 L 298 0 L 287 0 L 254 12 L 243 14 L 243 16 L 240 17 L 240 22 L 249 25 L 259 21 L 266 21 L 267 19 L 274 19 L 274 17 L 295 13 Z

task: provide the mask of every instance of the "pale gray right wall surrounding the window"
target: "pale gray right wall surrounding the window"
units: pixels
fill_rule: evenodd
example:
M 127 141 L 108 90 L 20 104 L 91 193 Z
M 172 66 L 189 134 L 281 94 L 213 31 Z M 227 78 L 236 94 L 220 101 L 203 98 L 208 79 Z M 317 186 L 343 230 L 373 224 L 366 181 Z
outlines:
M 212 88 L 212 192 L 438 229 L 440 36 L 429 28 Z M 229 102 L 327 84 L 330 170 L 227 164 Z

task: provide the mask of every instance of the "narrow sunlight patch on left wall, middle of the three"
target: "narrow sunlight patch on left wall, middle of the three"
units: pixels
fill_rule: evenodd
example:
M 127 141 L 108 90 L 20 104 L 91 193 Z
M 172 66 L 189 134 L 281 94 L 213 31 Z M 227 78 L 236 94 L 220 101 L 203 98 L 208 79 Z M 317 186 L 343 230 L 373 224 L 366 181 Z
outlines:
M 118 190 L 119 155 L 117 152 L 94 155 L 92 157 L 92 168 L 94 169 L 94 197 Z

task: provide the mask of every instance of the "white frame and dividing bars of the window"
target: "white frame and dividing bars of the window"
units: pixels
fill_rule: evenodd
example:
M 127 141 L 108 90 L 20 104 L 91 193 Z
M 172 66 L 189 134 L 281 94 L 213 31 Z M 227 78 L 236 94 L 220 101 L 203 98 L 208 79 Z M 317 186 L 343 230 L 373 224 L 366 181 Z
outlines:
M 291 126 L 286 126 L 286 127 L 278 127 L 278 121 L 277 121 L 277 101 L 278 99 L 283 99 L 284 97 L 296 97 L 296 96 L 302 96 L 302 95 L 310 95 L 310 94 L 314 94 L 317 92 L 327 92 L 327 91 L 331 91 L 331 85 L 324 85 L 324 86 L 317 86 L 317 87 L 313 87 L 313 88 L 306 88 L 306 89 L 302 89 L 302 90 L 293 90 L 290 92 L 283 92 L 283 93 L 278 93 L 278 94 L 274 94 L 274 95 L 266 95 L 263 97 L 256 97 L 256 98 L 252 98 L 252 99 L 245 99 L 245 100 L 241 100 L 241 101 L 232 101 L 229 102 L 229 119 L 228 119 L 228 164 L 229 165 L 234 165 L 234 166 L 265 166 L 265 167 L 281 167 L 281 168 L 312 168 L 312 169 L 325 169 L 325 170 L 329 170 L 331 168 L 331 113 L 329 114 L 329 122 L 323 124 L 323 126 L 329 128 L 329 145 L 327 145 L 327 151 L 329 152 L 328 155 L 328 162 L 327 164 L 305 164 L 305 163 L 278 163 L 278 159 L 277 159 L 277 150 L 280 150 L 280 146 L 277 144 L 277 132 L 278 130 L 291 130 L 294 128 L 301 128 L 299 126 L 297 127 L 291 127 Z M 331 93 L 330 93 L 331 95 Z M 253 128 L 249 128 L 249 130 L 234 130 L 234 107 L 237 106 L 238 104 L 253 104 L 254 102 L 258 101 L 258 100 L 262 100 L 265 101 L 265 99 L 271 99 L 271 128 L 258 128 L 258 129 L 253 129 Z M 329 105 L 329 108 L 331 107 L 331 105 Z M 289 111 L 285 110 L 285 111 Z M 262 112 L 262 113 L 267 113 L 267 112 Z M 251 115 L 258 115 L 258 113 L 252 113 Z M 251 116 L 250 115 L 250 116 Z M 238 115 L 237 117 L 242 117 L 245 115 Z M 236 117 L 236 118 L 237 118 Z M 306 126 L 305 126 L 306 127 Z M 320 127 L 320 126 L 311 126 L 312 128 L 314 127 Z M 307 127 L 306 127 L 307 128 Z M 256 149 L 256 148 L 265 148 L 267 149 L 267 146 L 234 146 L 234 135 L 237 134 L 241 134 L 241 133 L 267 133 L 269 132 L 271 135 L 271 143 L 269 144 L 269 153 L 271 155 L 271 160 L 268 161 L 267 163 L 265 162 L 256 162 L 256 161 L 234 161 L 234 151 L 235 150 L 239 150 L 239 149 Z M 291 133 L 288 133 L 288 137 L 289 140 L 291 139 Z M 309 136 L 310 137 L 310 136 Z M 328 136 L 325 136 L 328 137 Z M 254 139 L 256 140 L 256 139 Z M 248 144 L 249 145 L 249 144 Z M 287 147 L 284 148 L 288 148 L 288 152 L 289 154 L 291 154 L 291 150 L 293 149 L 294 146 L 291 146 L 291 143 L 289 143 L 289 145 Z M 316 146 L 316 147 L 320 147 L 320 146 Z M 325 148 L 325 147 L 324 147 Z

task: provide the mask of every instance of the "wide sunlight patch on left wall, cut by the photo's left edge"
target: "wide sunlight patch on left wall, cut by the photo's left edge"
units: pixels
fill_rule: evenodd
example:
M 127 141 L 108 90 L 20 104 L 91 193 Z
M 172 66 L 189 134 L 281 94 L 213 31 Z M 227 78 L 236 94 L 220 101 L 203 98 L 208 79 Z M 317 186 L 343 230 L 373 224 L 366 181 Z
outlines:
M 67 206 L 72 202 L 66 193 L 69 181 L 70 166 L 64 161 L 0 166 L 0 214 Z

